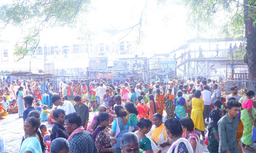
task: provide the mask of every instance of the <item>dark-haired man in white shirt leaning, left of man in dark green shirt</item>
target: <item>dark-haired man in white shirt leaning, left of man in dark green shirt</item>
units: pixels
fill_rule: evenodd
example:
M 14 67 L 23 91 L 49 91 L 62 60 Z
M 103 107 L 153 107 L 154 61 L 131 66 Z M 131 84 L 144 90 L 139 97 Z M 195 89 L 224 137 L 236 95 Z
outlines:
M 57 109 L 63 109 L 65 114 L 74 113 L 76 112 L 74 106 L 69 101 L 61 101 L 60 96 L 58 94 L 54 94 L 52 96 L 52 103 L 57 106 Z

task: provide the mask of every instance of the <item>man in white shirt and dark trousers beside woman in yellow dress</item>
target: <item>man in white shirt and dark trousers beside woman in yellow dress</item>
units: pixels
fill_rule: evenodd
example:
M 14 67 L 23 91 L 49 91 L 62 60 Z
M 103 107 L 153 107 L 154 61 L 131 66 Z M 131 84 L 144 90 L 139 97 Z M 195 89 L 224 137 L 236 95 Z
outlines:
M 204 86 L 204 91 L 202 91 L 202 98 L 204 100 L 204 112 L 203 117 L 209 122 L 209 115 L 211 109 L 211 91 L 208 90 L 208 86 Z

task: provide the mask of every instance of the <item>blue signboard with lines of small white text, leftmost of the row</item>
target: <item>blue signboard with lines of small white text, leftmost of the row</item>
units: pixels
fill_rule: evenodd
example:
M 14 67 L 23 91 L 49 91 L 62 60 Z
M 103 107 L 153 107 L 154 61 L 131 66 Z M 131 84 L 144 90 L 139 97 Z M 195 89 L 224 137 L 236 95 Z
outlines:
M 108 57 L 90 58 L 89 71 L 108 71 Z

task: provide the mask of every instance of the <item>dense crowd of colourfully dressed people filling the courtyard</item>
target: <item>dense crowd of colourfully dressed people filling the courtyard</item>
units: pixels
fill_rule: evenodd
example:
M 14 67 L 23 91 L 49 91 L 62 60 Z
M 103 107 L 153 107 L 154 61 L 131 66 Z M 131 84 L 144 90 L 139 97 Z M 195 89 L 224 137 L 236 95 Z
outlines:
M 7 112 L 23 117 L 21 153 L 202 153 L 201 139 L 210 153 L 242 153 L 239 140 L 255 150 L 251 90 L 241 97 L 231 87 L 223 106 L 218 84 L 206 78 L 64 79 L 57 90 L 47 79 L 44 85 L 42 92 L 36 80 L 31 85 L 8 81 L 0 93 L 0 117 Z M 96 114 L 92 121 L 89 112 Z M 54 124 L 52 130 L 40 121 Z

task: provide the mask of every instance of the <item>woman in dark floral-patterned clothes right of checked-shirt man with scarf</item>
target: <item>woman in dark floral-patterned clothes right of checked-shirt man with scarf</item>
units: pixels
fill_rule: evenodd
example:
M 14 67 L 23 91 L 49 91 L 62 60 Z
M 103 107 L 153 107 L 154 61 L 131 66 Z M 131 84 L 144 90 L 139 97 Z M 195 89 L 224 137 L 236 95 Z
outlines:
M 108 135 L 109 129 L 107 126 L 109 125 L 109 118 L 110 116 L 107 112 L 99 113 L 97 117 L 96 129 L 94 130 L 93 138 L 99 153 L 114 153 L 116 151 L 116 148 L 112 147 L 110 142 L 116 144 L 117 139 L 109 138 Z

